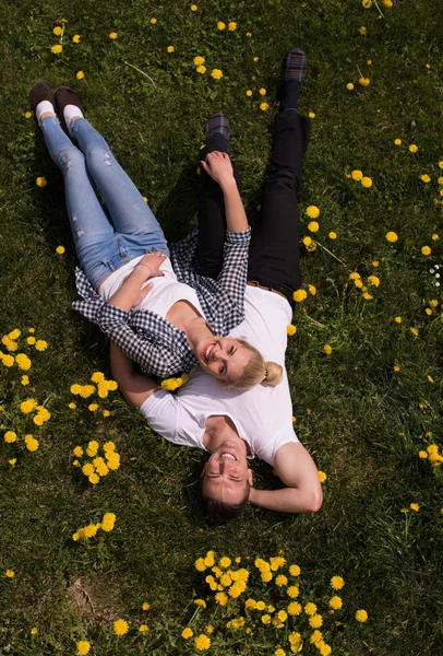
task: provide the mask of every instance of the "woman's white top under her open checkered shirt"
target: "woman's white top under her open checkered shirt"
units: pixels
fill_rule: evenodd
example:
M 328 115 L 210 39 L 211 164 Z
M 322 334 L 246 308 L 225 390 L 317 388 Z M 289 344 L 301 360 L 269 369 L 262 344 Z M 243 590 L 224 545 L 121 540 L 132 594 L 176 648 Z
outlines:
M 127 265 L 123 265 L 103 282 L 98 293 L 106 302 L 121 288 L 142 257 L 136 257 Z M 195 290 L 189 286 L 189 284 L 183 284 L 177 280 L 169 258 L 163 261 L 160 271 L 164 272 L 164 276 L 155 276 L 146 281 L 145 284 L 152 284 L 153 289 L 134 309 L 149 309 L 166 319 L 166 313 L 177 301 L 189 301 L 204 316 Z

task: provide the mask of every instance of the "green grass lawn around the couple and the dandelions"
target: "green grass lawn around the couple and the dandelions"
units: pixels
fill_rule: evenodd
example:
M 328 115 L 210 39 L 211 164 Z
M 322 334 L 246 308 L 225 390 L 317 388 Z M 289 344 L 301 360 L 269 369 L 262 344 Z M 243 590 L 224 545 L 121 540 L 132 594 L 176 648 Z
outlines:
M 443 271 L 442 9 L 424 0 L 394 0 L 393 9 L 379 2 L 380 11 L 358 0 L 197 4 L 193 13 L 178 0 L 157 8 L 141 0 L 38 7 L 24 0 L 2 10 L 0 335 L 20 328 L 22 344 L 35 327 L 49 345 L 41 353 L 24 348 L 33 360 L 32 391 L 20 385 L 23 372 L 0 364 L 0 434 L 20 435 L 0 446 L 0 653 L 75 654 L 84 639 L 97 655 L 194 654 L 181 630 L 193 616 L 193 598 L 211 599 L 194 560 L 215 550 L 241 557 L 252 572 L 256 557 L 282 550 L 302 570 L 300 597 L 318 601 L 333 654 L 435 656 L 443 633 L 442 477 L 418 452 L 431 443 L 442 447 L 442 288 L 429 272 L 435 263 Z M 61 17 L 68 20 L 63 51 L 55 56 L 50 46 L 60 37 L 52 28 Z M 217 21 L 236 21 L 237 30 L 220 32 Z M 112 31 L 116 40 L 108 37 Z M 74 34 L 80 44 L 72 44 Z M 168 45 L 175 52 L 167 54 Z M 175 239 L 195 224 L 203 127 L 223 109 L 253 221 L 274 112 L 271 101 L 267 112 L 259 109 L 258 90 L 273 98 L 282 57 L 292 45 L 309 58 L 301 109 L 316 115 L 300 191 L 302 233 L 309 234 L 306 207 L 318 206 L 320 231 L 312 236 L 321 246 L 303 253 L 304 283 L 315 284 L 318 294 L 296 308 L 287 367 L 296 430 L 327 473 L 324 504 L 309 516 L 249 508 L 239 522 L 211 526 L 199 495 L 203 454 L 159 438 L 118 391 L 100 401 L 109 418 L 91 413 L 86 400 L 68 408 L 73 383 L 86 384 L 95 371 L 110 376 L 108 347 L 71 309 L 75 256 L 62 177 L 24 113 L 37 80 L 79 89 L 88 118 Z M 194 72 L 196 55 L 206 59 L 204 75 Z M 213 68 L 223 70 L 222 80 L 211 78 Z M 359 69 L 371 80 L 367 87 L 358 84 Z M 346 177 L 356 168 L 373 179 L 370 189 Z M 423 173 L 430 184 L 420 179 Z M 48 185 L 38 188 L 37 176 Z M 399 237 L 394 245 L 384 236 L 390 230 Z M 63 256 L 56 254 L 60 244 Z M 361 298 L 351 271 L 380 277 L 372 301 Z M 433 298 L 439 305 L 427 316 Z M 410 327 L 419 329 L 417 338 Z M 331 356 L 323 353 L 326 343 Z M 27 396 L 51 412 L 41 430 L 19 410 Z M 35 453 L 22 440 L 32 429 L 40 443 Z M 120 469 L 97 487 L 72 466 L 72 448 L 93 438 L 113 440 L 121 455 Z M 266 465 L 252 467 L 258 485 L 278 484 Z M 412 502 L 419 513 L 402 514 Z M 117 515 L 112 532 L 72 540 L 105 512 Z M 11 579 L 8 569 L 15 572 Z M 332 618 L 326 608 L 335 574 L 346 585 L 344 609 Z M 261 585 L 251 583 L 246 595 L 277 606 L 274 584 L 268 591 Z M 152 605 L 147 613 L 144 600 Z M 244 614 L 231 604 L 223 611 L 208 601 L 193 620 L 195 633 L 208 622 L 216 626 L 208 653 L 267 655 L 277 644 L 289 653 L 285 631 L 226 629 L 228 619 Z M 358 608 L 369 613 L 366 624 L 354 619 Z M 131 628 L 117 640 L 118 618 Z M 139 635 L 142 622 L 149 625 L 146 636 Z M 295 624 L 309 636 L 306 620 Z M 320 652 L 308 637 L 302 653 Z

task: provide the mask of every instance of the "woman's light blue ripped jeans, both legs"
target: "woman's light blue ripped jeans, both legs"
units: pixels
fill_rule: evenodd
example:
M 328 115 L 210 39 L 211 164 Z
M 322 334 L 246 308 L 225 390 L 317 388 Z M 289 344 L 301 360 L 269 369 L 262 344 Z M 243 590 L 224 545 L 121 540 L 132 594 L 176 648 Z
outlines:
M 131 259 L 159 250 L 169 256 L 165 235 L 135 185 L 103 137 L 84 118 L 72 124 L 75 148 L 57 118 L 40 128 L 53 162 L 64 177 L 68 215 L 80 265 L 94 289 Z M 103 195 L 112 223 L 97 197 Z M 112 225 L 113 224 L 113 225 Z

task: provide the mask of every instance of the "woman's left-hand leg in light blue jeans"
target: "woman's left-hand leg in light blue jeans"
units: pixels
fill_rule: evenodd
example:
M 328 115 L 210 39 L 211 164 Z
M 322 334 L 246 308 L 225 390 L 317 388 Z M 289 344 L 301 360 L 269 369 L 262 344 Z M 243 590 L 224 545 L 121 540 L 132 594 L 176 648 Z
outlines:
M 112 249 L 115 233 L 97 198 L 87 173 L 85 159 L 71 142 L 55 116 L 40 122 L 41 132 L 53 162 L 64 177 L 64 194 L 75 251 L 80 263 L 96 286 L 97 278 L 110 272 L 99 261 Z

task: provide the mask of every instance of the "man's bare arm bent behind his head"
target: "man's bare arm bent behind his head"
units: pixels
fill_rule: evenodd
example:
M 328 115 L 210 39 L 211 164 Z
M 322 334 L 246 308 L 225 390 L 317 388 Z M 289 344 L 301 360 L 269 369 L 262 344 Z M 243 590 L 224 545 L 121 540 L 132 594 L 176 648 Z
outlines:
M 322 487 L 313 459 L 299 442 L 280 446 L 274 469 L 285 485 L 282 490 L 251 488 L 249 501 L 280 513 L 314 513 L 322 505 Z

